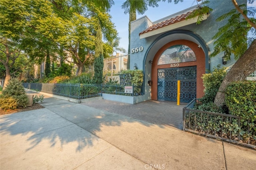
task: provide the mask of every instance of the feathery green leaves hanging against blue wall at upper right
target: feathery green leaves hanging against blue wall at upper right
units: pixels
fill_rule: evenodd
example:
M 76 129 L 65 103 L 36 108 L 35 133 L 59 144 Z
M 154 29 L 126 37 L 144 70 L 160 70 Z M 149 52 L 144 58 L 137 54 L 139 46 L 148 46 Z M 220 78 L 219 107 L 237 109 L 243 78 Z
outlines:
M 241 9 L 246 9 L 246 4 L 239 6 Z M 256 23 L 256 19 L 250 14 L 251 10 L 244 10 L 245 14 L 251 15 L 250 20 Z M 231 54 L 234 54 L 235 59 L 241 57 L 246 51 L 247 45 L 247 35 L 248 31 L 252 31 L 254 28 L 242 15 L 233 9 L 230 12 L 223 14 L 216 21 L 228 20 L 226 25 L 220 27 L 218 32 L 214 35 L 212 39 L 216 40 L 214 42 L 214 52 L 211 57 L 215 57 L 219 53 L 225 52 L 226 57 L 230 59 Z M 255 31 L 253 31 L 255 34 Z

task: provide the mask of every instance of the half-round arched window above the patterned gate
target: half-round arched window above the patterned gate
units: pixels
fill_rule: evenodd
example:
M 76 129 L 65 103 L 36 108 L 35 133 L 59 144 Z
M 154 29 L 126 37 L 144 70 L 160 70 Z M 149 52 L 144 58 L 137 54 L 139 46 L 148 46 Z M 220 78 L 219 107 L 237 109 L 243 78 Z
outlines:
M 166 49 L 158 59 L 158 65 L 196 61 L 196 55 L 186 45 L 174 45 Z

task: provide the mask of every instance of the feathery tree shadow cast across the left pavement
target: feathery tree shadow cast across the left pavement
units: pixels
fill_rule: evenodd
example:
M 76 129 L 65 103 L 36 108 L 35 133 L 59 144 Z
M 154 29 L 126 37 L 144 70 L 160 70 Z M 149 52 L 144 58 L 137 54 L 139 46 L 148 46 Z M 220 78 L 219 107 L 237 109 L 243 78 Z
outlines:
M 55 147 L 57 144 L 63 147 L 73 143 L 76 152 L 81 152 L 85 147 L 97 144 L 99 138 L 93 133 L 103 131 L 103 126 L 121 127 L 124 122 L 146 127 L 153 125 L 146 121 L 56 98 L 46 98 L 42 105 L 46 108 L 1 115 L 1 145 L 25 140 L 28 142 L 26 144 L 28 151 L 47 140 L 50 147 Z M 161 125 L 157 126 L 164 128 Z

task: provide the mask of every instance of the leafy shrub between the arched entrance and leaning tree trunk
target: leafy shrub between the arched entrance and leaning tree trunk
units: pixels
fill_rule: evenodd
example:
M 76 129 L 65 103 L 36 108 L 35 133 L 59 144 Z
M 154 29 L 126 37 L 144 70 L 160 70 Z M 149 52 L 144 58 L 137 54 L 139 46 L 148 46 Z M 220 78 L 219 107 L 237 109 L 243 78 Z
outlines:
M 204 104 L 214 102 L 214 98 L 218 92 L 220 84 L 226 76 L 226 67 L 214 67 L 212 73 L 203 74 L 204 96 L 200 101 Z

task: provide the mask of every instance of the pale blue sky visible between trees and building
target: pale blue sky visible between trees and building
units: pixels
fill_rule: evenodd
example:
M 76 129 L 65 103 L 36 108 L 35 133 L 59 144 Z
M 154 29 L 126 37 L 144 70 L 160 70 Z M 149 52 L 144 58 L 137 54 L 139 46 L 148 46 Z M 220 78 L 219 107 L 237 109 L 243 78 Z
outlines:
M 112 22 L 116 26 L 118 37 L 121 38 L 119 47 L 123 47 L 127 51 L 129 14 L 124 14 L 124 10 L 121 8 L 125 0 L 114 0 L 114 2 L 115 4 L 111 7 L 110 15 L 112 16 Z M 173 1 L 171 3 L 168 3 L 167 0 L 166 2 L 161 1 L 158 2 L 158 7 L 148 7 L 148 10 L 143 15 L 137 14 L 137 19 L 141 18 L 142 16 L 148 16 L 148 18 L 154 22 L 196 4 L 196 0 L 184 0 L 178 4 L 174 4 Z M 256 7 L 256 1 L 254 1 L 253 4 L 250 4 L 250 6 Z

